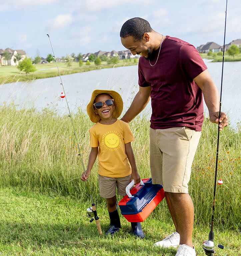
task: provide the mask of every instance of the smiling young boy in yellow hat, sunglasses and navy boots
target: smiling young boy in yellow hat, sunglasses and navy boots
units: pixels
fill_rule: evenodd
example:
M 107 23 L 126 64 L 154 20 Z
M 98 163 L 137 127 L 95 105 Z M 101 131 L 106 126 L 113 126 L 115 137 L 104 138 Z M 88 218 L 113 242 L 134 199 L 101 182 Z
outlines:
M 125 196 L 125 188 L 131 180 L 134 179 L 135 184 L 140 182 L 131 147 L 134 137 L 129 125 L 117 119 L 122 110 L 123 101 L 120 94 L 111 90 L 93 91 L 87 105 L 90 120 L 96 124 L 89 130 L 91 152 L 86 175 L 83 173 L 81 180 L 87 180 L 98 155 L 100 196 L 106 198 L 110 216 L 110 227 L 106 235 L 114 234 L 121 227 L 116 187 L 118 195 Z M 137 237 L 145 237 L 140 222 L 132 222 L 131 227 Z

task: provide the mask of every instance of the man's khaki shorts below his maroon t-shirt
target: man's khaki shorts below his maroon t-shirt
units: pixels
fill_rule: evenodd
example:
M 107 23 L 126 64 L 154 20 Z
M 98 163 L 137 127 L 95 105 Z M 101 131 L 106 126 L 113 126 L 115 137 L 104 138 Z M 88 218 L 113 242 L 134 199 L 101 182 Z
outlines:
M 188 193 L 192 161 L 201 132 L 187 127 L 150 128 L 150 167 L 153 184 L 166 192 Z

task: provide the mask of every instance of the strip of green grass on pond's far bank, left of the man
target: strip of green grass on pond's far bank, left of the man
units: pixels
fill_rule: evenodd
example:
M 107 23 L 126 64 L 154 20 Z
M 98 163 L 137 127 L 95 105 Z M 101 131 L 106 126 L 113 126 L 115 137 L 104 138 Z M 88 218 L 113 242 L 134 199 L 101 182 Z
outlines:
M 120 60 L 119 63 L 117 63 L 116 65 L 107 64 L 106 61 L 102 61 L 100 66 L 96 66 L 94 62 L 91 62 L 90 66 L 87 66 L 86 62 L 84 62 L 83 66 L 81 67 L 79 66 L 78 62 L 73 62 L 70 68 L 68 68 L 65 63 L 59 62 L 58 66 L 59 66 L 60 74 L 67 75 L 67 74 L 90 71 L 94 69 L 113 68 L 113 66 L 123 67 L 123 66 L 137 65 L 137 64 L 138 64 L 138 60 L 137 60 L 137 63 L 134 63 L 134 59 L 132 59 L 131 61 Z M 34 66 L 36 67 L 37 70 L 28 75 L 26 75 L 24 72 L 20 72 L 16 66 L 0 66 L 0 84 L 58 76 L 58 70 L 55 62 L 36 64 Z

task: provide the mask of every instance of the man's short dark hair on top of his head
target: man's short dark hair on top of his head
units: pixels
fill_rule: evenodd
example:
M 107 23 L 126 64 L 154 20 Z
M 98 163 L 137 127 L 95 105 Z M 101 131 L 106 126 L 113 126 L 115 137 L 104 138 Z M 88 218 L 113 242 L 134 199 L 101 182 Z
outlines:
M 120 37 L 125 38 L 127 36 L 133 36 L 136 40 L 140 41 L 144 33 L 151 32 L 149 22 L 142 18 L 132 18 L 127 20 L 120 31 Z

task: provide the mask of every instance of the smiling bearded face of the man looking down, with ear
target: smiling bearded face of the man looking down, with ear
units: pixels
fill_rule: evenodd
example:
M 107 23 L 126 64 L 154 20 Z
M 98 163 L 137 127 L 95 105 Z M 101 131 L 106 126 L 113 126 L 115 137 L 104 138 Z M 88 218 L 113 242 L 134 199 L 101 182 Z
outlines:
M 137 41 L 133 36 L 121 37 L 121 43 L 125 48 L 129 49 L 133 55 L 138 54 L 142 57 L 150 58 L 153 52 L 147 33 L 143 35 L 140 41 Z

